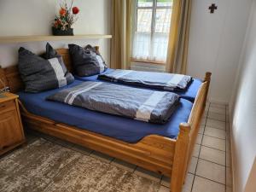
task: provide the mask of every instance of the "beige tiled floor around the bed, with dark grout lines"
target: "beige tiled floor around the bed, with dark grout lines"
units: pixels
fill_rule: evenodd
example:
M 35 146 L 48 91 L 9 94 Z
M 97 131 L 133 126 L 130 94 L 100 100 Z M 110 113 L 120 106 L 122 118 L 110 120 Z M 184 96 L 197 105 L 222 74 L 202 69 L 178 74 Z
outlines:
M 228 108 L 216 103 L 208 103 L 201 128 L 196 140 L 189 172 L 183 186 L 183 192 L 230 192 L 230 129 Z M 33 136 L 29 135 L 29 140 Z M 42 135 L 40 135 L 42 137 Z M 80 153 L 104 160 L 119 166 L 133 174 L 148 177 L 161 184 L 159 192 L 170 192 L 170 178 L 154 172 L 148 172 L 141 167 L 131 165 L 122 160 L 114 159 L 106 154 L 92 151 L 72 143 L 67 143 L 49 136 L 44 138 L 59 143 Z

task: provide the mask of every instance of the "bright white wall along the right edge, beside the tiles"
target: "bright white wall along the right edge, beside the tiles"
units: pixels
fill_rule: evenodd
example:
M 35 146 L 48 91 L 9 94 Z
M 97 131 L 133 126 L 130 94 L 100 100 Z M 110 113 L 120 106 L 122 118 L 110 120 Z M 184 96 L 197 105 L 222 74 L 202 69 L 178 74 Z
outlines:
M 253 1 L 230 102 L 235 192 L 255 191 L 256 181 L 256 1 Z

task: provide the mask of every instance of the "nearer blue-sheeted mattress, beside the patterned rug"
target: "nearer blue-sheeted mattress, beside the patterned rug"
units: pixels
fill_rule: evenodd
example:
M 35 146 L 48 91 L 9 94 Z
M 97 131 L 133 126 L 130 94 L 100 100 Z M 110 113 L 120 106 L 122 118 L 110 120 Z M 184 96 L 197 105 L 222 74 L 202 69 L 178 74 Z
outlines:
M 30 113 L 55 120 L 56 122 L 74 125 L 104 136 L 113 137 L 127 143 L 137 143 L 143 137 L 151 134 L 170 138 L 177 137 L 179 131 L 178 126 L 181 122 L 188 121 L 189 113 L 193 105 L 191 102 L 181 99 L 181 104 L 177 108 L 177 111 L 172 114 L 170 121 L 165 125 L 155 125 L 107 113 L 99 113 L 84 108 L 73 107 L 61 102 L 45 100 L 47 96 L 67 87 L 73 87 L 81 82 L 82 81 L 75 80 L 73 84 L 69 84 L 61 89 L 48 90 L 36 94 L 22 91 L 18 94 L 20 101 Z

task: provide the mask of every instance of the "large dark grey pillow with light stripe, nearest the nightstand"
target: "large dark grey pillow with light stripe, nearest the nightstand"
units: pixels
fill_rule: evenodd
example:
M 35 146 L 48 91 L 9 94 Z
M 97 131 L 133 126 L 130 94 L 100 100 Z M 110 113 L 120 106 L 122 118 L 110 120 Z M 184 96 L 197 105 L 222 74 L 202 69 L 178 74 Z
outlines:
M 51 90 L 74 81 L 73 75 L 68 73 L 61 55 L 44 59 L 20 47 L 18 67 L 26 92 L 36 93 Z

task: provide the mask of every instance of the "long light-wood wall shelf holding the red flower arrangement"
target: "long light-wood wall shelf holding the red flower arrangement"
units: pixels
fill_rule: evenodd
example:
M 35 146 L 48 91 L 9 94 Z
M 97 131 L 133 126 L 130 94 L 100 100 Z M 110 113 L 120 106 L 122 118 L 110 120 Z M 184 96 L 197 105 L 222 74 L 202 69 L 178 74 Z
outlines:
M 14 43 L 26 43 L 37 41 L 61 41 L 61 40 L 83 40 L 83 39 L 99 39 L 99 38 L 112 38 L 112 35 L 99 35 L 99 34 L 87 34 L 87 35 L 74 35 L 74 36 L 12 36 L 12 37 L 0 37 L 0 44 L 14 44 Z

